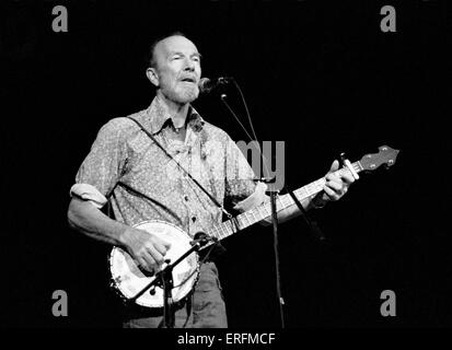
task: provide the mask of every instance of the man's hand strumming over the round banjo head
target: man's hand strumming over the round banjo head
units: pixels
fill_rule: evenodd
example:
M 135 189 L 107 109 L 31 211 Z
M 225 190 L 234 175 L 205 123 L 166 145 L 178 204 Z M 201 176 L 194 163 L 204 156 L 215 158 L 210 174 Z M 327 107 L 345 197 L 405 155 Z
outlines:
M 137 265 L 151 273 L 160 270 L 164 256 L 171 247 L 170 243 L 154 234 L 135 228 L 128 228 L 121 241 Z

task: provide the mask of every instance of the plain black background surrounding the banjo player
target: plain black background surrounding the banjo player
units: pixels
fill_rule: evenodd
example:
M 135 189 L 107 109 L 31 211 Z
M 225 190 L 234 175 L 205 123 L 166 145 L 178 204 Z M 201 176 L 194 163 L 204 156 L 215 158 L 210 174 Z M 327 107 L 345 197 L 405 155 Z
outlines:
M 51 30 L 57 4 L 67 33 Z M 380 30 L 385 4 L 396 33 Z M 1 326 L 120 326 L 108 247 L 68 228 L 69 188 L 98 128 L 151 103 L 143 61 L 172 31 L 197 45 L 205 77 L 235 77 L 260 140 L 286 142 L 288 188 L 340 152 L 401 150 L 390 171 L 312 213 L 326 242 L 301 219 L 280 226 L 287 326 L 452 325 L 445 1 L 5 1 L 0 13 Z M 224 92 L 246 122 L 236 91 Z M 218 94 L 196 108 L 247 140 Z M 279 327 L 271 229 L 224 245 L 230 326 Z M 51 314 L 55 290 L 68 293 L 68 317 Z M 396 293 L 395 317 L 380 314 L 383 290 Z

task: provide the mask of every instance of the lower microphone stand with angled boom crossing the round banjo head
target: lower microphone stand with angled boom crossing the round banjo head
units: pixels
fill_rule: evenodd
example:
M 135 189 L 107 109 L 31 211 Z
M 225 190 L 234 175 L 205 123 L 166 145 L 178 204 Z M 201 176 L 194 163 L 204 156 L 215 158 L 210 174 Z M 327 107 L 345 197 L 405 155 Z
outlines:
M 172 290 L 174 288 L 173 283 L 173 269 L 176 265 L 183 261 L 187 256 L 189 256 L 194 252 L 198 252 L 201 247 L 204 247 L 209 242 L 216 242 L 215 238 L 209 237 L 207 234 L 199 232 L 195 236 L 198 238 L 194 240 L 190 244 L 193 245 L 186 253 L 184 253 L 173 264 L 169 264 L 170 260 L 165 260 L 166 267 L 154 276 L 155 278 L 148 283 L 141 291 L 139 291 L 135 296 L 128 300 L 129 303 L 135 303 L 138 298 L 146 293 L 147 290 L 151 289 L 149 292 L 151 294 L 155 293 L 155 287 L 160 287 L 163 290 L 163 318 L 164 318 L 164 327 L 163 328 L 174 328 L 175 324 L 175 312 L 173 307 L 173 295 Z

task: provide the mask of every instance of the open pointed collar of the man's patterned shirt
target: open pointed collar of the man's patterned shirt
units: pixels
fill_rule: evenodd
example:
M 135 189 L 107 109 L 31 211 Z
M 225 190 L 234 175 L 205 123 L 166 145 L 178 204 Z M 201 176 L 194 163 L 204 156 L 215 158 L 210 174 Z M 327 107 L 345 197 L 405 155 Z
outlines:
M 164 127 L 172 125 L 171 114 L 167 110 L 167 106 L 159 96 L 154 97 L 151 105 L 147 109 L 147 116 L 153 135 L 160 132 Z M 192 105 L 189 105 L 187 113 L 187 126 L 192 127 L 194 131 L 200 131 L 204 125 L 205 121 L 202 117 Z

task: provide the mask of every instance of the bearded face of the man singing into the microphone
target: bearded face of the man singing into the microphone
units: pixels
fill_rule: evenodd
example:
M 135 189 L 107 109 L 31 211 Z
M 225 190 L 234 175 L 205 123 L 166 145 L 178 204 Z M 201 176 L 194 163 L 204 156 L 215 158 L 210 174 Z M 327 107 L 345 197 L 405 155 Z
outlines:
M 200 55 L 195 44 L 183 36 L 170 36 L 154 49 L 154 84 L 169 100 L 186 104 L 199 95 Z

